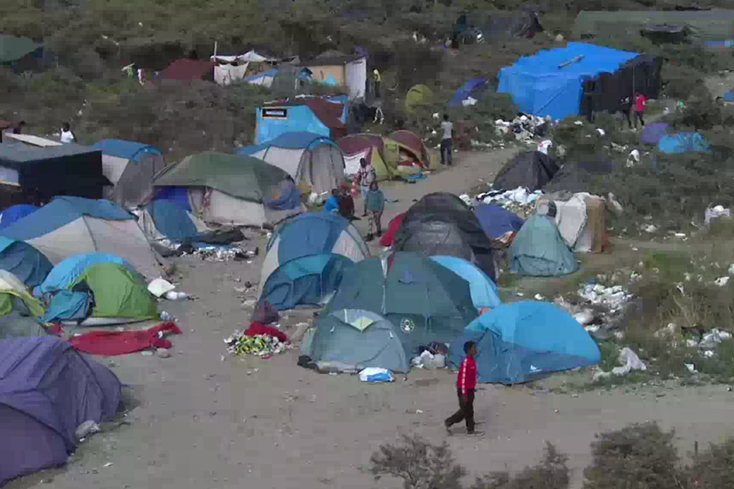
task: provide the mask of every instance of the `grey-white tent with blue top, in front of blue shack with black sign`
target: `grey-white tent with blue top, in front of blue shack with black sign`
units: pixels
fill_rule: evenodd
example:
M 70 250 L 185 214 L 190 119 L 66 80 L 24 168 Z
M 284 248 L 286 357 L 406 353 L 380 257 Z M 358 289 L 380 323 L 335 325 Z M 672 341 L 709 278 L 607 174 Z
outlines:
M 334 141 L 319 134 L 284 133 L 272 141 L 241 148 L 237 154 L 277 166 L 317 194 L 344 182 L 344 155 Z

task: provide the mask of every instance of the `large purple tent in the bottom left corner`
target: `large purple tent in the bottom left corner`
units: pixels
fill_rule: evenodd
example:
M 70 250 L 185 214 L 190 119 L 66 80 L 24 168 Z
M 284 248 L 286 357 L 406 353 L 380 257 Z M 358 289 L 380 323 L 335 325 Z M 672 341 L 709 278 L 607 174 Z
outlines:
M 74 432 L 120 406 L 120 380 L 53 337 L 0 341 L 0 485 L 66 463 Z

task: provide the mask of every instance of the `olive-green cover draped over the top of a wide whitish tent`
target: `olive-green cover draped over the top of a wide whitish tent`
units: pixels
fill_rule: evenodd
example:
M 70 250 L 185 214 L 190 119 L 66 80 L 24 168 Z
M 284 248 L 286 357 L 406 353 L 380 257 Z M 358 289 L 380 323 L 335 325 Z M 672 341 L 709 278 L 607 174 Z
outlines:
M 241 199 L 263 202 L 270 188 L 288 174 L 254 156 L 200 152 L 164 169 L 153 185 L 214 188 Z

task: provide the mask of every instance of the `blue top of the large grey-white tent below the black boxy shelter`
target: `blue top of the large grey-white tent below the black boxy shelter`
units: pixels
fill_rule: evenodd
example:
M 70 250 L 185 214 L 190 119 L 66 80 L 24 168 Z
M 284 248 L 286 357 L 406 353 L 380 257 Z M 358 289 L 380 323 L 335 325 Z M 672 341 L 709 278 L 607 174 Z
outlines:
M 19 241 L 32 240 L 76 221 L 81 216 L 90 216 L 106 221 L 127 221 L 134 218 L 131 213 L 108 200 L 55 197 L 54 200 L 31 215 L 0 230 L 0 235 Z

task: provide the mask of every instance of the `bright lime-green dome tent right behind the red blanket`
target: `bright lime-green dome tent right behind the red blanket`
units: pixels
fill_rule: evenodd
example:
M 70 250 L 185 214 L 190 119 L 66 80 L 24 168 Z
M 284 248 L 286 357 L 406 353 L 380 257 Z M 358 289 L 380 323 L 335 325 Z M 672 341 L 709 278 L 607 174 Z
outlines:
M 97 263 L 87 268 L 69 288 L 85 282 L 94 293 L 92 317 L 123 317 L 130 320 L 158 318 L 156 299 L 145 279 L 117 263 Z

